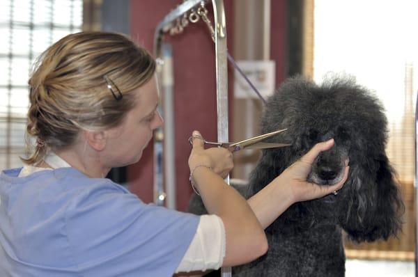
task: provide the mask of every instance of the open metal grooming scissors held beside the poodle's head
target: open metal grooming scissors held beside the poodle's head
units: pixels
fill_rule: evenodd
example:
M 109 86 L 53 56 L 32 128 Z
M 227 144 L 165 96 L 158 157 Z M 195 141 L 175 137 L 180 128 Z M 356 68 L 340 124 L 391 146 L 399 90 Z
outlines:
M 231 152 L 237 152 L 244 149 L 266 149 L 266 148 L 279 148 L 291 145 L 291 143 L 265 143 L 263 140 L 286 131 L 287 129 L 277 130 L 268 134 L 262 134 L 260 136 L 254 136 L 250 139 L 245 139 L 244 141 L 238 141 L 236 143 L 217 143 L 212 141 L 206 141 L 202 136 L 192 135 L 189 137 L 189 143 L 193 144 L 193 138 L 201 139 L 203 143 L 210 145 L 217 145 L 219 147 L 227 148 Z

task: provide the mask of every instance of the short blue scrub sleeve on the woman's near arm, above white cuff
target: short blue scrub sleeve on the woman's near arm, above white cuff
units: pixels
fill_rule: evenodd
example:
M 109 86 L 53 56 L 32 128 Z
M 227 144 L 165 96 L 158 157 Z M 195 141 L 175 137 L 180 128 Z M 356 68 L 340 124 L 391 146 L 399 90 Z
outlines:
M 66 216 L 70 251 L 86 276 L 171 276 L 199 216 L 146 205 L 115 184 L 83 191 Z

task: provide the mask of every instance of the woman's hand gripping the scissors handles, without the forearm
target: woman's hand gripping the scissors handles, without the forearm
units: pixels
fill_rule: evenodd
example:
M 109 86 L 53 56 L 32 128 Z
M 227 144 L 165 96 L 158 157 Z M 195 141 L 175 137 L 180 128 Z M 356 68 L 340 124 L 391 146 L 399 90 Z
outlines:
M 212 171 L 225 178 L 233 168 L 232 153 L 226 148 L 204 148 L 203 141 L 195 136 L 201 136 L 198 131 L 193 132 L 193 148 L 189 156 L 189 168 L 208 166 Z

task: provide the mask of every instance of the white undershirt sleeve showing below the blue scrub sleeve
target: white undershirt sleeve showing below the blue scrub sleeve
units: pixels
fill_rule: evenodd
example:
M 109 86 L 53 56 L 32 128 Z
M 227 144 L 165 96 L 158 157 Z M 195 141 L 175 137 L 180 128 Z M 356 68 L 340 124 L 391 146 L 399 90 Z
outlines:
M 181 260 L 177 272 L 219 269 L 225 257 L 226 234 L 222 219 L 215 215 L 203 215 L 196 234 Z

